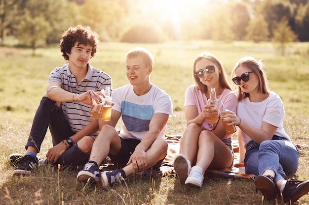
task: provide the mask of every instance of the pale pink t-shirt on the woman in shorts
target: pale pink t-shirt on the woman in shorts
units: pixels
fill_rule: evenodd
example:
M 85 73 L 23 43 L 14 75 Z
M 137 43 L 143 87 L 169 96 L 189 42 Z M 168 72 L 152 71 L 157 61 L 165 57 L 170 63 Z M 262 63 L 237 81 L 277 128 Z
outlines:
M 227 88 L 224 89 L 222 94 L 219 96 L 218 100 L 221 100 L 226 107 L 226 109 L 236 113 L 237 108 L 237 95 L 232 90 Z M 207 104 L 207 97 L 201 90 L 197 89 L 195 85 L 190 86 L 186 90 L 185 94 L 185 106 L 194 105 L 197 108 L 197 113 L 200 114 L 203 110 L 203 107 Z M 201 126 L 202 130 L 212 130 L 210 124 L 208 124 L 207 119 Z M 232 134 L 226 135 L 224 138 L 227 139 L 231 137 Z

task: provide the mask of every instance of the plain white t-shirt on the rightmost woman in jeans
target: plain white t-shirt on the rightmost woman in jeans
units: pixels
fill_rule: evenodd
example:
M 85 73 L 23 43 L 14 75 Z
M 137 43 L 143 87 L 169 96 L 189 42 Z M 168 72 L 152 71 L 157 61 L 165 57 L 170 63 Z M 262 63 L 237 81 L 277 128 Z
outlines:
M 285 133 L 282 126 L 284 117 L 284 107 L 280 97 L 270 92 L 270 96 L 262 102 L 250 102 L 249 97 L 241 100 L 237 104 L 237 116 L 241 121 L 245 121 L 250 126 L 261 129 L 262 121 L 277 127 L 274 135 L 284 137 L 291 142 L 291 138 Z M 245 145 L 252 139 L 241 130 Z

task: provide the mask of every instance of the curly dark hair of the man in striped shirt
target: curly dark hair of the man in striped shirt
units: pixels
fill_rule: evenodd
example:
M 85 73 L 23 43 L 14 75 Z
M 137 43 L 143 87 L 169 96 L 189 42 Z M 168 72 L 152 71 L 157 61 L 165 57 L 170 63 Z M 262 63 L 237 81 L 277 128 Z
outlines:
M 70 27 L 63 33 L 59 46 L 65 60 L 69 60 L 67 53 L 71 54 L 71 49 L 76 42 L 85 46 L 89 44 L 92 47 L 91 57 L 94 57 L 100 43 L 99 35 L 88 26 Z

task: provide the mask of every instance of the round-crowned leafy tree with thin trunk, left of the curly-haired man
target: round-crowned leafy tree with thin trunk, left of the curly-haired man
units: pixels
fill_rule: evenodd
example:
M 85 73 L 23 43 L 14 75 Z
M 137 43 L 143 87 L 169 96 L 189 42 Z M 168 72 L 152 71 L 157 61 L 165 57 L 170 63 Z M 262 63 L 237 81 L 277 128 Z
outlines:
M 42 16 L 33 18 L 29 12 L 26 12 L 24 21 L 19 26 L 17 38 L 23 45 L 30 46 L 35 55 L 39 42 L 45 42 L 49 28 L 49 23 Z

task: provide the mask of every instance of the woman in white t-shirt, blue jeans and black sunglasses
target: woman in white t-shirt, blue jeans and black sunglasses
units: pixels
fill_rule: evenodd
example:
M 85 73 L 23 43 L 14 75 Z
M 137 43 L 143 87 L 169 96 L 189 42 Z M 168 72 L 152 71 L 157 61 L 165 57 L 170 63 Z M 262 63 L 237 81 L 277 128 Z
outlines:
M 297 171 L 299 150 L 282 127 L 283 103 L 269 90 L 263 67 L 261 60 L 252 57 L 236 63 L 232 81 L 238 86 L 237 115 L 227 111 L 222 117 L 240 128 L 237 134 L 246 148 L 245 171 L 256 175 L 256 188 L 267 200 L 281 192 L 284 203 L 294 203 L 309 192 L 309 180 L 285 180 Z

